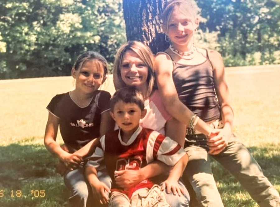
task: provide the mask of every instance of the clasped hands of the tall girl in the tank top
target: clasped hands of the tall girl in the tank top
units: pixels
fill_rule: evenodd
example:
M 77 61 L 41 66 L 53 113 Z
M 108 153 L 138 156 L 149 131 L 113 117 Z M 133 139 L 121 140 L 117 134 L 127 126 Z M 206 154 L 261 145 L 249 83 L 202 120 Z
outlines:
M 231 129 L 213 129 L 209 137 L 207 137 L 207 145 L 209 146 L 209 154 L 217 155 L 222 152 L 228 145 L 231 137 Z

